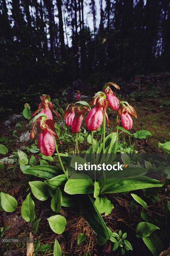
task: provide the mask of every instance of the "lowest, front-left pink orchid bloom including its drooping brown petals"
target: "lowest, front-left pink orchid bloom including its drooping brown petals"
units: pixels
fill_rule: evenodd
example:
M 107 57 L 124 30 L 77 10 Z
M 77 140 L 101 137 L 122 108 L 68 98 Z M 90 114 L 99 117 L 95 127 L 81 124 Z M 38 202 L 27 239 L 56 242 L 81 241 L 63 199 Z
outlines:
M 46 117 L 43 116 L 40 117 L 40 119 L 36 119 L 31 129 L 30 139 L 33 139 L 35 136 L 34 128 L 36 123 L 37 135 L 38 133 L 40 133 L 38 139 L 38 148 L 41 151 L 41 153 L 44 154 L 45 156 L 52 156 L 55 150 L 55 141 L 53 135 L 59 140 L 58 135 L 53 131 L 54 121 L 51 119 L 46 119 Z M 62 144 L 60 140 L 59 142 L 60 144 Z

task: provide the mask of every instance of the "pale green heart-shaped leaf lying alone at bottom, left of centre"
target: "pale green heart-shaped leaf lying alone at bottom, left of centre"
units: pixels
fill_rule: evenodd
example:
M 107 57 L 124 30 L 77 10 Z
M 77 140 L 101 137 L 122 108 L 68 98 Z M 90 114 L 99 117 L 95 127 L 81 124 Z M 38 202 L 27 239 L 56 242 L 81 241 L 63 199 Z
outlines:
M 47 219 L 52 231 L 57 234 L 61 234 L 65 230 L 65 226 L 67 224 L 66 219 L 61 215 L 54 215 Z

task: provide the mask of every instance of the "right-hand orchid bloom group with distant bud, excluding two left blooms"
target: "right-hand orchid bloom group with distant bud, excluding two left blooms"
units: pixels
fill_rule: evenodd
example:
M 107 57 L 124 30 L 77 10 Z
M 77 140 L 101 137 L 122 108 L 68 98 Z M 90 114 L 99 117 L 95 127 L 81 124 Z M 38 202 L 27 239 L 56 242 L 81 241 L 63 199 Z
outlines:
M 109 106 L 113 110 L 118 111 L 117 125 L 119 124 L 121 117 L 124 129 L 129 130 L 132 128 L 133 120 L 131 115 L 137 118 L 135 109 L 130 106 L 128 102 L 118 100 L 112 89 L 109 87 L 111 84 L 120 90 L 120 87 L 117 84 L 105 84 L 103 90 L 95 94 L 94 99 L 88 108 L 78 107 L 75 104 L 69 104 L 67 110 L 64 113 L 64 120 L 67 126 L 71 126 L 73 133 L 76 134 L 80 130 L 83 116 L 87 111 L 88 115 L 86 117 L 86 126 L 88 130 L 97 130 L 103 123 L 104 116 L 106 118 L 107 125 L 109 126 L 109 118 L 106 113 Z M 78 92 L 77 99 L 80 103 L 83 103 L 80 101 L 80 97 L 80 92 Z M 91 106 L 94 106 L 94 108 L 91 109 Z

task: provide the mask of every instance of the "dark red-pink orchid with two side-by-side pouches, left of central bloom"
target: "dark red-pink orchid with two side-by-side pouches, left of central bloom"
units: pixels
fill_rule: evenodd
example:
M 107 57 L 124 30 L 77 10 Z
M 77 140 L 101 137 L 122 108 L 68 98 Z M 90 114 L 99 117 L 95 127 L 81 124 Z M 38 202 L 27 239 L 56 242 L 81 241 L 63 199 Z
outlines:
M 71 108 L 69 108 L 71 106 Z M 78 133 L 80 130 L 82 121 L 83 121 L 83 115 L 85 112 L 82 112 L 85 109 L 85 112 L 89 109 L 86 107 L 79 108 L 78 106 L 74 104 L 69 104 L 67 107 L 65 113 L 64 113 L 64 120 L 65 124 L 67 126 L 71 126 L 73 133 Z

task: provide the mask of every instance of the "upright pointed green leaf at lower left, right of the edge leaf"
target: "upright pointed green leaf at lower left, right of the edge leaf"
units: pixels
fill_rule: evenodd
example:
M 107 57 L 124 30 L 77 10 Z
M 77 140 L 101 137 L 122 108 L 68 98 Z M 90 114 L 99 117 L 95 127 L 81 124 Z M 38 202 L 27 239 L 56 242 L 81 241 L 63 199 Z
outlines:
M 32 223 L 33 220 L 35 219 L 35 213 L 34 213 L 34 201 L 31 199 L 31 193 L 29 193 L 27 195 L 27 197 L 25 198 L 24 202 L 22 203 L 21 206 L 21 215 L 22 218 L 26 221 L 26 222 L 30 222 Z

